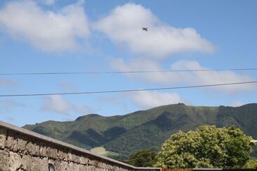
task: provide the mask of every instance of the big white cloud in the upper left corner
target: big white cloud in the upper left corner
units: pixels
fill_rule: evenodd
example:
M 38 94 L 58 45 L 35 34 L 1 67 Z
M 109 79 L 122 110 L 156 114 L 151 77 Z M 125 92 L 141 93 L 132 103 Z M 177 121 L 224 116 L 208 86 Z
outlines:
M 48 52 L 78 50 L 79 39 L 90 34 L 79 2 L 51 11 L 35 1 L 11 1 L 0 10 L 0 30 Z

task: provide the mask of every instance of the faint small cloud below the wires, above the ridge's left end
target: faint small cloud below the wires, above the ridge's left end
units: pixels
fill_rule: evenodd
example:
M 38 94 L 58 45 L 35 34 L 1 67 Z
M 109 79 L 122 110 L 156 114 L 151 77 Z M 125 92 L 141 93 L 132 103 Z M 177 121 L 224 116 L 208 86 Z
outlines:
M 60 95 L 52 95 L 44 98 L 41 111 L 57 112 L 59 114 L 70 114 L 71 112 L 79 112 L 80 114 L 87 114 L 90 112 L 85 105 L 73 104 L 64 100 Z

